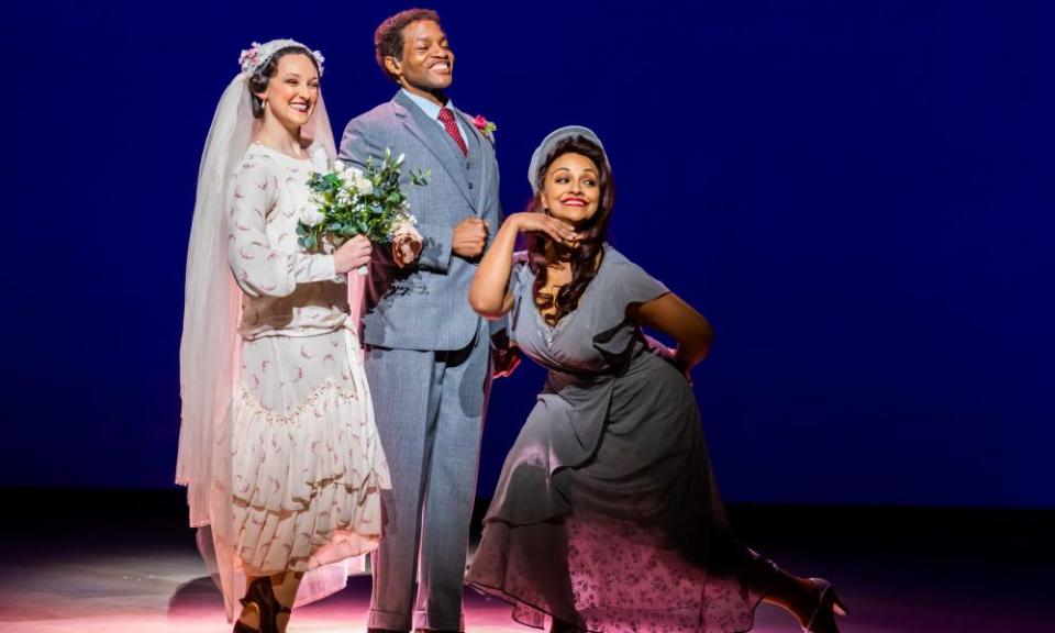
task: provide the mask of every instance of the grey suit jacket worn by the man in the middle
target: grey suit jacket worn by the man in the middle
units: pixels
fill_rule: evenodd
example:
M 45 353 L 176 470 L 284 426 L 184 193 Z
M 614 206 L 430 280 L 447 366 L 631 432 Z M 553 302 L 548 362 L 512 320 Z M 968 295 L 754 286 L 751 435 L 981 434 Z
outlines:
M 363 168 L 389 148 L 404 154 L 400 185 L 418 219 L 424 247 L 417 265 L 400 269 L 389 248 L 375 248 L 366 284 L 363 341 L 399 349 L 462 349 L 476 335 L 480 316 L 468 292 L 478 260 L 451 251 L 454 227 L 466 218 L 490 224 L 491 240 L 501 222 L 498 160 L 491 142 L 460 111 L 468 134 L 468 157 L 436 122 L 403 95 L 353 119 L 344 130 L 338 158 Z M 413 169 L 431 170 L 427 186 L 410 182 Z M 490 243 L 490 242 L 489 242 Z M 491 332 L 503 326 L 491 324 Z

